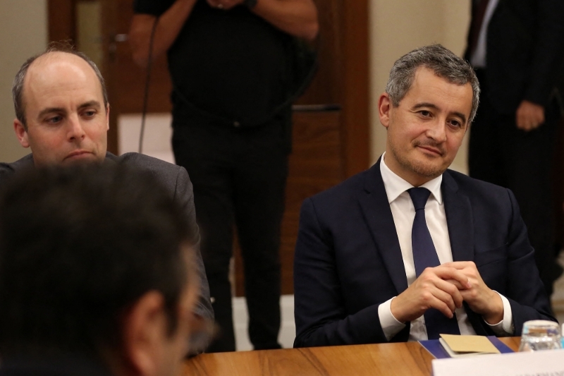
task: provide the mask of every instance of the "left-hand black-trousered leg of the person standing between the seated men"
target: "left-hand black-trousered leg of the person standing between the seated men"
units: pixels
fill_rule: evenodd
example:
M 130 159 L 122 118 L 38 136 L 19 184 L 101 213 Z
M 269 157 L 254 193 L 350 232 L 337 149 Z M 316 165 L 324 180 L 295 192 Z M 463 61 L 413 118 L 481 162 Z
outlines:
M 175 126 L 176 164 L 185 167 L 194 186 L 200 248 L 219 327 L 207 352 L 235 351 L 229 262 L 233 254 L 231 130 L 209 124 Z

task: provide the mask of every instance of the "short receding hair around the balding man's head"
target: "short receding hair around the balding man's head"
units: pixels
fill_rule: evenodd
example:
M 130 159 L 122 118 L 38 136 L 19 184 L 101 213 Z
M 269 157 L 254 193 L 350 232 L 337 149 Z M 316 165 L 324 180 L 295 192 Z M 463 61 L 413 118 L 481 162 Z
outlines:
M 90 68 L 94 70 L 96 73 L 96 77 L 98 78 L 100 85 L 102 86 L 102 97 L 104 97 L 104 109 L 108 107 L 108 92 L 106 91 L 106 83 L 104 82 L 104 78 L 102 77 L 102 73 L 100 70 L 86 54 L 83 54 L 80 51 L 77 51 L 72 44 L 68 42 L 52 42 L 47 46 L 47 49 L 40 54 L 30 57 L 27 59 L 22 66 L 20 66 L 20 70 L 16 73 L 16 78 L 13 79 L 12 85 L 12 98 L 13 98 L 13 109 L 16 112 L 16 119 L 18 119 L 22 124 L 25 130 L 27 131 L 27 123 L 25 123 L 25 103 L 23 102 L 23 84 L 25 81 L 25 75 L 27 75 L 27 70 L 30 68 L 31 64 L 37 60 L 39 57 L 50 54 L 51 52 L 65 52 L 66 54 L 72 54 L 75 56 L 80 57 L 80 59 L 86 61 Z

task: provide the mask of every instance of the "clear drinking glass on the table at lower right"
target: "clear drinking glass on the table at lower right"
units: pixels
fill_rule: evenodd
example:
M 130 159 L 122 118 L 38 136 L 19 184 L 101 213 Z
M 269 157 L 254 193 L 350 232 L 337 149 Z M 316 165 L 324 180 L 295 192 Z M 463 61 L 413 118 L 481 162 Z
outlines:
M 541 351 L 562 348 L 560 326 L 548 320 L 532 320 L 523 324 L 519 351 Z

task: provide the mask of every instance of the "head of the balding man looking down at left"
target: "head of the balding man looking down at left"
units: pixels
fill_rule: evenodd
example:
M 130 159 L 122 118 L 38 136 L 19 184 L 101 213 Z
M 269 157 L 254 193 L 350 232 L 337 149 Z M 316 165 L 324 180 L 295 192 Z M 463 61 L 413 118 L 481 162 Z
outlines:
M 14 130 L 36 165 L 104 159 L 109 104 L 104 79 L 87 56 L 50 47 L 21 66 L 12 94 Z

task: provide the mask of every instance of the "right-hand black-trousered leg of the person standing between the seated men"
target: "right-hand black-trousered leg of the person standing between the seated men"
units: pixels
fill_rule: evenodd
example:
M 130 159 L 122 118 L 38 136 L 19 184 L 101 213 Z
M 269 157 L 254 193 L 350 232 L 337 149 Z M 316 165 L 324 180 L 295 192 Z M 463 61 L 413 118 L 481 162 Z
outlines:
M 285 119 L 241 130 L 235 217 L 245 269 L 249 338 L 255 350 L 280 348 L 280 236 L 288 176 Z

